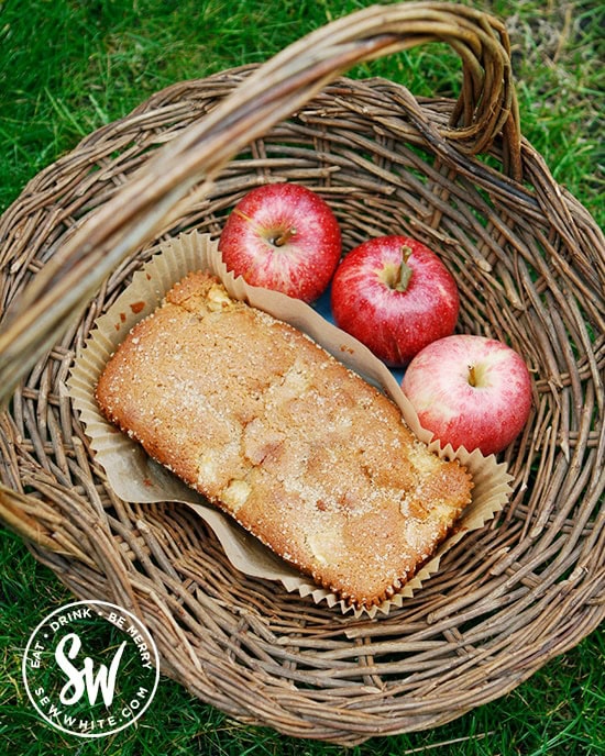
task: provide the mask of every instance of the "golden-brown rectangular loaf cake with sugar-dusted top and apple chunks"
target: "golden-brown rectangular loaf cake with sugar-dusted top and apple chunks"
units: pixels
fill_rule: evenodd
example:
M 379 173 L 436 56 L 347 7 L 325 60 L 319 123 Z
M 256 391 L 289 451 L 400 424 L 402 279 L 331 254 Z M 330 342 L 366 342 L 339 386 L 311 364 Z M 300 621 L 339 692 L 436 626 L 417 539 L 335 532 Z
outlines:
M 311 338 L 194 273 L 118 347 L 105 416 L 349 605 L 391 598 L 470 502 L 472 480 Z

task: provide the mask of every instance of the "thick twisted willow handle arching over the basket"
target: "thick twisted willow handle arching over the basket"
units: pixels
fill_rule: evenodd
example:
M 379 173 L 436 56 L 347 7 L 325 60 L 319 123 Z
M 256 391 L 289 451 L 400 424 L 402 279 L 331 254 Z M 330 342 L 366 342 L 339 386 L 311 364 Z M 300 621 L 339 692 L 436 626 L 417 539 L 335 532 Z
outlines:
M 429 42 L 446 42 L 463 63 L 452 123 L 437 129 L 420 107 L 416 125 L 438 154 L 485 152 L 503 138 L 504 170 L 520 178 L 520 130 L 504 24 L 450 2 L 374 5 L 286 47 L 229 98 L 157 151 L 51 257 L 7 313 L 0 330 L 0 402 L 94 297 L 103 279 L 154 237 L 166 216 L 241 148 L 288 118 L 351 66 Z

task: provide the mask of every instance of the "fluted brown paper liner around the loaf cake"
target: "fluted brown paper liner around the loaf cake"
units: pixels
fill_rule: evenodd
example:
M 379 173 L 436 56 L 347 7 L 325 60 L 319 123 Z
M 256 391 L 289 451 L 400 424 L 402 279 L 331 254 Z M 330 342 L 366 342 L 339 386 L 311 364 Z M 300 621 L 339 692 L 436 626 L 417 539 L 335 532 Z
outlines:
M 431 451 L 441 457 L 458 458 L 471 472 L 474 482 L 472 502 L 459 519 L 455 532 L 411 580 L 380 607 L 354 609 L 334 593 L 318 587 L 311 578 L 275 555 L 228 514 L 152 460 L 136 442 L 101 415 L 95 399 L 95 387 L 108 359 L 135 323 L 153 312 L 168 289 L 194 270 L 213 273 L 232 297 L 244 299 L 249 304 L 307 333 L 365 380 L 384 390 L 399 407 L 410 430 Z M 157 253 L 134 274 L 132 284 L 97 320 L 90 337 L 77 354 L 67 385 L 96 459 L 105 468 L 110 486 L 121 499 L 141 503 L 176 501 L 191 507 L 216 533 L 231 564 L 239 570 L 254 577 L 279 580 L 288 591 L 310 594 L 314 601 L 326 601 L 330 607 L 339 604 L 342 612 L 352 611 L 355 616 L 364 613 L 374 616 L 377 612 L 386 614 L 392 607 L 400 607 L 406 597 L 411 597 L 422 581 L 439 569 L 443 553 L 465 533 L 483 527 L 492 520 L 510 493 L 512 477 L 506 471 L 506 465 L 498 464 L 494 455 L 485 457 L 479 451 L 469 453 L 464 448 L 454 453 L 451 446 L 441 449 L 439 442 L 431 442 L 431 433 L 420 426 L 398 381 L 365 346 L 329 323 L 308 304 L 276 291 L 249 286 L 242 278 L 234 278 L 227 271 L 217 243 L 210 236 L 195 231 L 160 244 Z

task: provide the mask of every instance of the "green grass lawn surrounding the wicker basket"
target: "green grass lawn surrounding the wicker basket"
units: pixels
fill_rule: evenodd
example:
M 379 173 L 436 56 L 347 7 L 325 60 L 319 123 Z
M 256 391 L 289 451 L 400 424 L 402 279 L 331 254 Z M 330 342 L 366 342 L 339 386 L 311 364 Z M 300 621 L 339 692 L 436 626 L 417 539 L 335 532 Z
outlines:
M 0 0 L 0 211 L 90 131 L 182 79 L 261 62 L 361 0 Z M 603 43 L 598 2 L 494 0 L 514 45 L 525 136 L 558 181 L 603 223 Z M 361 66 L 418 94 L 453 94 L 460 67 L 428 46 Z M 70 600 L 21 542 L 2 532 L 0 753 L 341 754 L 337 746 L 250 729 L 162 679 L 140 726 L 85 742 L 41 724 L 20 676 L 33 627 Z M 503 699 L 432 731 L 374 738 L 348 754 L 605 753 L 605 643 L 593 633 Z

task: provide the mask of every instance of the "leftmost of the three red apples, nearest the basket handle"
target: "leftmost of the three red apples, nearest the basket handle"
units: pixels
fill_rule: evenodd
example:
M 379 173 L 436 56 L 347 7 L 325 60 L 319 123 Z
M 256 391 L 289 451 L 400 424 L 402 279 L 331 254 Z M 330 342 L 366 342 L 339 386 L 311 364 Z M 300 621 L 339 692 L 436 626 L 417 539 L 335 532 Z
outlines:
M 228 269 L 249 284 L 312 302 L 332 278 L 342 241 L 319 194 L 298 184 L 270 184 L 238 202 L 219 249 Z

